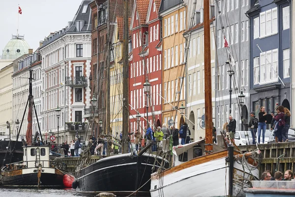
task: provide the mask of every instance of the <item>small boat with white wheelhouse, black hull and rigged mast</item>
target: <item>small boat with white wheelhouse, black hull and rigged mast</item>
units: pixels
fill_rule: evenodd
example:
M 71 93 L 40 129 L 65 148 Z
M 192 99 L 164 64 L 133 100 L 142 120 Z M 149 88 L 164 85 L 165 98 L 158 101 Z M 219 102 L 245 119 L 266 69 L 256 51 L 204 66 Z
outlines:
M 32 112 L 36 108 L 32 95 L 32 69 L 29 69 L 29 98 L 27 101 L 28 129 L 26 145 L 23 147 L 23 161 L 6 164 L 1 168 L 1 184 L 7 187 L 63 187 L 66 164 L 50 161 L 49 146 L 42 145 L 43 139 L 39 128 L 32 142 Z M 25 108 L 25 110 L 26 110 Z M 25 112 L 26 113 L 26 112 Z M 21 131 L 25 113 L 17 133 Z M 37 118 L 38 122 L 38 118 Z M 39 123 L 38 123 L 39 126 Z M 41 138 L 41 140 L 39 140 Z

